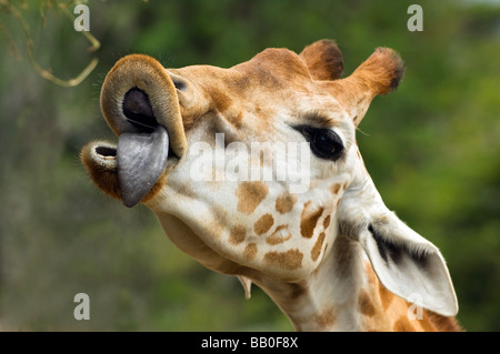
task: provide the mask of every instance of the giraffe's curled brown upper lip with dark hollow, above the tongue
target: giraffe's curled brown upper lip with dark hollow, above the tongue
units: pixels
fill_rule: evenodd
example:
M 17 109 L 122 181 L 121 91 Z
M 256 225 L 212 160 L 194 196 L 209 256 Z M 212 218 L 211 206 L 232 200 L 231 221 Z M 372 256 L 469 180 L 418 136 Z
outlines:
M 101 89 L 101 111 L 117 135 L 143 133 L 162 125 L 170 150 L 186 153 L 186 132 L 179 97 L 168 71 L 153 58 L 131 54 L 120 59 L 106 77 Z

